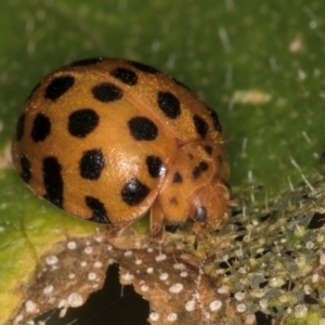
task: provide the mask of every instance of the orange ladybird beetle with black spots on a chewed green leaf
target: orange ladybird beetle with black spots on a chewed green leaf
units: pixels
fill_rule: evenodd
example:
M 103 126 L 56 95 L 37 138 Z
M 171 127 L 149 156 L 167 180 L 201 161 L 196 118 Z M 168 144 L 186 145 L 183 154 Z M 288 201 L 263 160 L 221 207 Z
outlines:
M 112 223 L 117 236 L 151 212 L 219 229 L 230 217 L 230 168 L 218 115 L 187 87 L 139 62 L 88 58 L 47 76 L 20 115 L 13 162 L 66 212 Z

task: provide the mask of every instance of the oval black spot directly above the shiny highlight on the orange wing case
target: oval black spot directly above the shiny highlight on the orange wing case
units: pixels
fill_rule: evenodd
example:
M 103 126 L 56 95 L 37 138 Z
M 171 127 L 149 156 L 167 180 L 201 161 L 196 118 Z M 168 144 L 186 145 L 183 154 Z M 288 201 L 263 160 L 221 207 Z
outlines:
M 158 128 L 148 118 L 143 116 L 133 117 L 128 121 L 131 135 L 136 141 L 153 141 L 158 135 Z

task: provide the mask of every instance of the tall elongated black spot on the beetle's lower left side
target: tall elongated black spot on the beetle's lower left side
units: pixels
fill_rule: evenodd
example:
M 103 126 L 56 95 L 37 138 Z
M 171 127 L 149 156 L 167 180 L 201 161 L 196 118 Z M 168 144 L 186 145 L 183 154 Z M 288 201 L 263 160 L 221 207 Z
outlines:
M 46 186 L 44 198 L 63 208 L 63 179 L 61 174 L 62 167 L 55 157 L 47 157 L 43 159 L 42 172 Z

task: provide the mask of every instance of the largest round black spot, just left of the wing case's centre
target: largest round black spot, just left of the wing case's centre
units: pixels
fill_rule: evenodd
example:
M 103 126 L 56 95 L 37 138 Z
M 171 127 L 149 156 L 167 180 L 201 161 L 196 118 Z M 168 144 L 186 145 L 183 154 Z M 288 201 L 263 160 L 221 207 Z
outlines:
M 77 138 L 86 138 L 99 125 L 100 117 L 91 108 L 75 110 L 68 118 L 68 131 Z

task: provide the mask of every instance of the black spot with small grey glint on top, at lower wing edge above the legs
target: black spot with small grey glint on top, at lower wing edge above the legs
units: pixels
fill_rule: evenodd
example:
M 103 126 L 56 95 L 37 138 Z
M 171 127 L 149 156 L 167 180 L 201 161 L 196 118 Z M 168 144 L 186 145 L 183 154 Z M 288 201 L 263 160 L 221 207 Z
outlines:
M 141 183 L 138 179 L 130 179 L 122 187 L 120 195 L 129 206 L 141 204 L 151 192 L 151 188 Z

